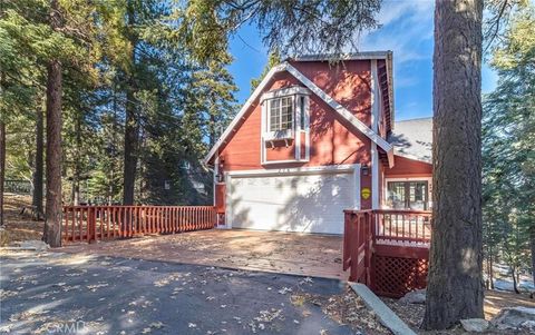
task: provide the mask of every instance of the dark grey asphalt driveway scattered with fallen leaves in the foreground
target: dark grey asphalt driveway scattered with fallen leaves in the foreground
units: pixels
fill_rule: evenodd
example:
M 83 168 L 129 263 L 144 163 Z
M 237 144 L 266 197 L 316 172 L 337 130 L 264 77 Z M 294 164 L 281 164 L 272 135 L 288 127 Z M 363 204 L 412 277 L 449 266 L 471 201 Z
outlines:
M 299 295 L 344 284 L 87 254 L 0 257 L 0 333 L 358 334 Z

